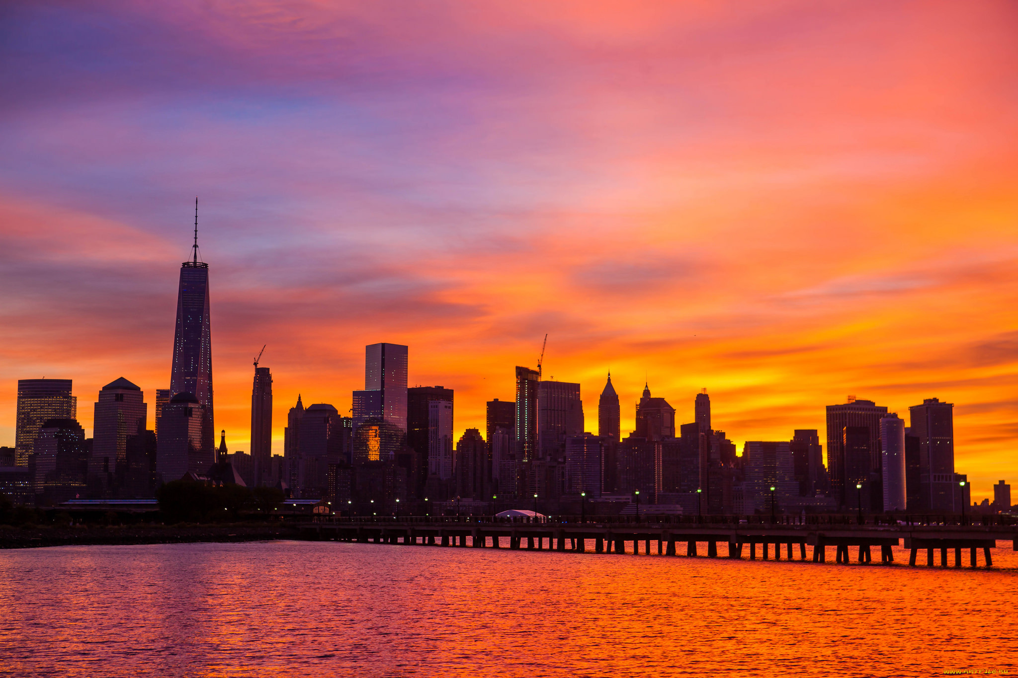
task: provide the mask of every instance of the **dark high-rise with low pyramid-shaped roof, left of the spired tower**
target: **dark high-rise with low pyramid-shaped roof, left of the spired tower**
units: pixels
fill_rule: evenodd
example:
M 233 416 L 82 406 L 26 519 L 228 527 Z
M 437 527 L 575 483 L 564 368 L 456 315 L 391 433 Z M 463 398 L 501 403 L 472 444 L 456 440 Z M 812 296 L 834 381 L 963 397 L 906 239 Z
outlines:
M 103 386 L 96 403 L 89 475 L 104 488 L 115 484 L 127 461 L 127 437 L 144 433 L 149 416 L 142 389 L 120 377 Z

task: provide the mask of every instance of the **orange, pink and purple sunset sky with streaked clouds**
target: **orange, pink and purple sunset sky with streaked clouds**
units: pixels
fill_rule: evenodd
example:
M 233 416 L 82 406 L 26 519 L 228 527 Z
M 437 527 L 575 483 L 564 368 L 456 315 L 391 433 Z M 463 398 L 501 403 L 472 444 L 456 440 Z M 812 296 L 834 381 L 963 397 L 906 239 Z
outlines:
M 7 2 L 0 444 L 16 380 L 169 386 L 210 264 L 216 428 L 251 360 L 350 408 L 364 345 L 454 388 L 644 379 L 739 450 L 848 394 L 954 403 L 1018 481 L 1018 3 Z M 825 445 L 826 451 L 826 445 Z

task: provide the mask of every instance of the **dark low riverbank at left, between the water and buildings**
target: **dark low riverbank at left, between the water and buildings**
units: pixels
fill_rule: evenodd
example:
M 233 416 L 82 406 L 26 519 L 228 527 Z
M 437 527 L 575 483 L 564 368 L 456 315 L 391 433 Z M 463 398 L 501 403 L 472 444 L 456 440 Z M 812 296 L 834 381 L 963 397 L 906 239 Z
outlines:
M 297 530 L 280 522 L 231 525 L 75 526 L 55 528 L 0 527 L 0 549 L 98 544 L 188 544 L 194 542 L 261 542 L 297 539 Z

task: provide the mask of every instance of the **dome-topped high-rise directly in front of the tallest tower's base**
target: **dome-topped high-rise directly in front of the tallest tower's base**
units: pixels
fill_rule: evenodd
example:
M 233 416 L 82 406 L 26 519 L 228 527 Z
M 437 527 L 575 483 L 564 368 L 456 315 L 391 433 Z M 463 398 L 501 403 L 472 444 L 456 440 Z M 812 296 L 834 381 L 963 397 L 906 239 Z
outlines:
M 215 463 L 215 447 L 206 446 L 205 406 L 193 393 L 177 393 L 163 406 L 156 443 L 156 473 L 162 482 L 202 474 Z

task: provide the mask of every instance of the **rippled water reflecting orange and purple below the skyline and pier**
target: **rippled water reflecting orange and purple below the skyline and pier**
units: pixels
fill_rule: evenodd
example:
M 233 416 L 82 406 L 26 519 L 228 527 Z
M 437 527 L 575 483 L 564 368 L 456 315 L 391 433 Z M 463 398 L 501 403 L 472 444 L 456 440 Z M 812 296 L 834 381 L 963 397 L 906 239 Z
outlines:
M 0 675 L 1014 672 L 1008 547 L 993 570 L 908 568 L 900 549 L 894 566 L 334 542 L 2 551 Z

